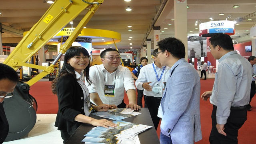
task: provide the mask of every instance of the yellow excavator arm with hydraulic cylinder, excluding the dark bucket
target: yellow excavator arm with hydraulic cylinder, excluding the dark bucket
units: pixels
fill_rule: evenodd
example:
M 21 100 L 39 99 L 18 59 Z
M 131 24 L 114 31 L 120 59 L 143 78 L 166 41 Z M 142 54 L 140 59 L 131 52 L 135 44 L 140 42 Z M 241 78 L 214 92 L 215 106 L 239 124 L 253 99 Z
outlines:
M 26 82 L 29 86 L 36 83 L 49 72 L 54 71 L 54 65 L 58 62 L 62 54 L 65 54 L 66 50 L 70 48 L 72 42 L 74 42 L 103 1 L 104 0 L 55 0 L 54 4 L 52 4 L 44 16 L 42 16 L 24 38 L 22 38 L 16 48 L 14 48 L 4 61 L 4 64 L 11 66 L 14 70 L 17 70 L 20 66 L 43 70 L 43 72 Z M 91 7 L 88 8 L 89 6 Z M 68 40 L 66 40 L 65 44 L 62 44 L 60 54 L 50 66 L 46 67 L 26 63 L 30 57 L 38 52 L 40 48 L 49 42 L 50 39 L 86 8 L 88 8 L 88 12 L 84 18 L 82 18 Z

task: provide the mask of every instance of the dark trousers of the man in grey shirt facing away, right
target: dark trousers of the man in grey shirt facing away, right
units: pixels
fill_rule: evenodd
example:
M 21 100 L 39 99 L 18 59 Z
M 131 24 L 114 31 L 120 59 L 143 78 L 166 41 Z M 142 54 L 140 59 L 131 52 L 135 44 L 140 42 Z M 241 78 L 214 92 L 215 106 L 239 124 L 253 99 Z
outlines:
M 238 144 L 238 130 L 247 120 L 246 108 L 230 110 L 230 116 L 224 126 L 224 132 L 227 136 L 218 133 L 216 128 L 216 110 L 217 108 L 213 108 L 212 110 L 212 131 L 209 137 L 210 144 Z

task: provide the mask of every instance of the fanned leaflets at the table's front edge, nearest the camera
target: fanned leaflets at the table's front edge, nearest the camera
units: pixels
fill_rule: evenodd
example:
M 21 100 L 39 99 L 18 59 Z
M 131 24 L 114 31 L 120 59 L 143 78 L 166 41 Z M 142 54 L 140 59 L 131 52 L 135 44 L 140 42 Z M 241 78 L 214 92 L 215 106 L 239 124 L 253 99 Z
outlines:
M 122 120 L 114 121 L 116 128 L 103 128 L 100 126 L 92 128 L 82 140 L 85 144 L 140 144 L 138 134 L 152 126 L 134 124 Z

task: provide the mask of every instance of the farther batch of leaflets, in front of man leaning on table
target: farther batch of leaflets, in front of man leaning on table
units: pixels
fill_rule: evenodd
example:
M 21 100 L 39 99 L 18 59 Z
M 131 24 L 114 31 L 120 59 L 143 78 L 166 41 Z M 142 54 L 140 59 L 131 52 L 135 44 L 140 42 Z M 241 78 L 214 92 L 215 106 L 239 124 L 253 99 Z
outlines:
M 122 120 L 124 118 L 136 116 L 140 113 L 134 112 L 134 110 L 130 108 L 115 108 L 115 109 L 109 109 L 107 112 L 94 112 L 92 114 L 95 116 L 100 116 L 102 118 L 108 118 L 111 120 Z

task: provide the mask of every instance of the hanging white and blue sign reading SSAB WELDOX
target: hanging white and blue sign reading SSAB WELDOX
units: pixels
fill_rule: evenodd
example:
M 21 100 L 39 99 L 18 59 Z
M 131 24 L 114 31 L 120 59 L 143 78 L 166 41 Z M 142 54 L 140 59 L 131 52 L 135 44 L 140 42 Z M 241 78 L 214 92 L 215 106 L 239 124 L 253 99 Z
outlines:
M 229 20 L 211 21 L 204 22 L 199 25 L 199 30 L 201 33 L 206 32 L 211 33 L 233 33 L 234 32 L 234 22 Z M 204 31 L 204 32 L 203 32 Z

